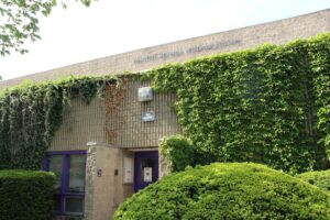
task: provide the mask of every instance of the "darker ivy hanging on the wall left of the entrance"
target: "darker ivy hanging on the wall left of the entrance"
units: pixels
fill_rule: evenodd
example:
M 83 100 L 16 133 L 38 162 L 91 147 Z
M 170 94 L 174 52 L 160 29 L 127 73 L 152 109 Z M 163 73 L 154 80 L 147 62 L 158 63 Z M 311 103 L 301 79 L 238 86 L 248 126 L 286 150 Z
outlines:
M 87 103 L 102 95 L 112 76 L 69 78 L 57 82 L 23 85 L 0 95 L 0 169 L 41 169 L 44 153 L 69 99 L 81 97 Z

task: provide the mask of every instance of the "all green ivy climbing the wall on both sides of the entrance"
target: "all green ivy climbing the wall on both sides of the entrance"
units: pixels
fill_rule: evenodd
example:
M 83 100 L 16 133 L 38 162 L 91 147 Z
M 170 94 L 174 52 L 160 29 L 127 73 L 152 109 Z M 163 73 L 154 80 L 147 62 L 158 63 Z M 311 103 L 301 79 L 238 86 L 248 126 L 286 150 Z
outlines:
M 329 167 L 330 34 L 124 75 L 177 95 L 197 163 L 252 161 L 290 173 Z M 120 76 L 119 76 L 120 78 Z M 73 96 L 111 77 L 29 85 L 0 95 L 0 168 L 38 169 Z

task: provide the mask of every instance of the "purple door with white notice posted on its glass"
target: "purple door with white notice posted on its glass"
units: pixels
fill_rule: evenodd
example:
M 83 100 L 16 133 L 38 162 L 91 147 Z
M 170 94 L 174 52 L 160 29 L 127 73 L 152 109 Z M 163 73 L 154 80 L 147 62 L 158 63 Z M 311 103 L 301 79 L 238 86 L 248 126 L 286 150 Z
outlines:
M 134 158 L 134 191 L 158 180 L 158 152 L 136 152 Z

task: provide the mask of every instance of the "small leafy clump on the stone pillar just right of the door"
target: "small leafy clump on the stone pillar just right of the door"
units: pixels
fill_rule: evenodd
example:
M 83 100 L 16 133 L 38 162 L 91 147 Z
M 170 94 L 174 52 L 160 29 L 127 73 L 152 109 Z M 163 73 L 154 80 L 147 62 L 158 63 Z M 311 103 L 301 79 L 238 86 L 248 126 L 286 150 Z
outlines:
M 191 141 L 183 135 L 164 138 L 160 145 L 162 154 L 168 157 L 173 172 L 195 165 L 196 152 Z

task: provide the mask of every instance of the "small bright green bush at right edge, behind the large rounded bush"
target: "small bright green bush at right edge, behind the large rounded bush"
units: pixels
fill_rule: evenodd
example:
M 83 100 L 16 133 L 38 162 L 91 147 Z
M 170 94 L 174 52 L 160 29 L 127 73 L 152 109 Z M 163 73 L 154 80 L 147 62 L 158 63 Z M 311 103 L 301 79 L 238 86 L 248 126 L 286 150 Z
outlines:
M 330 191 L 330 169 L 321 172 L 307 172 L 299 174 L 297 177 L 321 189 Z

